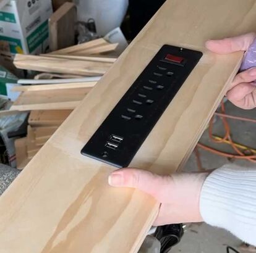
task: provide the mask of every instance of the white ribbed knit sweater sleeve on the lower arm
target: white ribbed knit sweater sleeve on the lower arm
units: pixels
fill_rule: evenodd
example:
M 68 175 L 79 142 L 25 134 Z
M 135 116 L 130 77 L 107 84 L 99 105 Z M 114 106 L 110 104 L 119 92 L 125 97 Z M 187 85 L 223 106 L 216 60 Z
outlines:
M 256 246 L 256 168 L 225 165 L 211 173 L 200 196 L 203 220 Z

